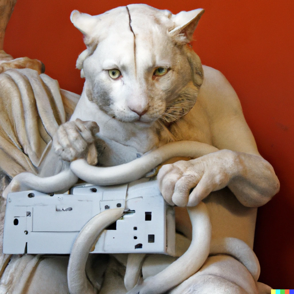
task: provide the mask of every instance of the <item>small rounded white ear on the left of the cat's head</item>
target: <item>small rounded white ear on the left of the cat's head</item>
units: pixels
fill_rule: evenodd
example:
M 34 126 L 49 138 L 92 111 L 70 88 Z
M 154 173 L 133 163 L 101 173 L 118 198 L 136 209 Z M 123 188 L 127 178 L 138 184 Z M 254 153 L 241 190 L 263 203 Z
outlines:
M 85 36 L 89 36 L 97 24 L 97 18 L 90 14 L 80 13 L 74 10 L 71 12 L 71 22 Z

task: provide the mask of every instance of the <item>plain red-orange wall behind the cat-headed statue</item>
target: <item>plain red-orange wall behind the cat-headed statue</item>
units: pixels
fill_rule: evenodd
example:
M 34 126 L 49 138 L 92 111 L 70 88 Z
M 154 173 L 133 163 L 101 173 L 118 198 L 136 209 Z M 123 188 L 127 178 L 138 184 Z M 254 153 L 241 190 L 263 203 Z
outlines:
M 18 0 L 8 24 L 4 50 L 37 58 L 61 88 L 81 93 L 75 69 L 84 49 L 71 24 L 72 10 L 100 14 L 131 0 Z M 136 3 L 136 2 L 135 2 Z M 177 0 L 145 2 L 173 13 L 205 8 L 193 48 L 203 64 L 219 69 L 239 95 L 259 151 L 280 179 L 280 193 L 259 208 L 255 252 L 260 281 L 274 289 L 294 288 L 294 121 L 293 1 Z

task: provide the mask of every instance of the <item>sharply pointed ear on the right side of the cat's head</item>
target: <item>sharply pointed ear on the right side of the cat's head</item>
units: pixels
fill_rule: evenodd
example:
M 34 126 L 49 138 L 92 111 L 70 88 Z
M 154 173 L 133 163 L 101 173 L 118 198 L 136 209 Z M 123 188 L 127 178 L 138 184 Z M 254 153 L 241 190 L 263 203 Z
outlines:
M 173 39 L 177 43 L 189 43 L 203 13 L 204 9 L 198 8 L 191 11 L 181 11 L 178 14 L 172 15 L 171 20 L 174 22 L 176 27 L 169 33 Z

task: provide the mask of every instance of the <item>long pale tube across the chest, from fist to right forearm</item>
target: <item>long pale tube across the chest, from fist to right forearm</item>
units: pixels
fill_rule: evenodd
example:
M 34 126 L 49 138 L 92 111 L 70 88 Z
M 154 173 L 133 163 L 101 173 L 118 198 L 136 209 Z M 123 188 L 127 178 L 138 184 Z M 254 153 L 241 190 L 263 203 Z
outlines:
M 77 159 L 70 165 L 71 170 L 83 181 L 106 186 L 136 181 L 153 168 L 173 157 L 198 158 L 218 151 L 216 147 L 195 141 L 168 143 L 131 162 L 111 167 L 91 166 L 84 159 Z

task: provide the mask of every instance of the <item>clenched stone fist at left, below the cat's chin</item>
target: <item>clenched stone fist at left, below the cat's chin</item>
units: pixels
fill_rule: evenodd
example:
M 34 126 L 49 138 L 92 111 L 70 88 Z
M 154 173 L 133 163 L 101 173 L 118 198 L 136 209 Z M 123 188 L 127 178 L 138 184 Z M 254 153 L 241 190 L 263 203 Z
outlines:
M 68 121 L 59 126 L 53 137 L 54 151 L 65 161 L 86 158 L 98 132 L 99 127 L 95 121 L 81 121 L 78 118 L 75 121 Z M 92 149 L 90 148 L 89 153 L 93 153 Z

